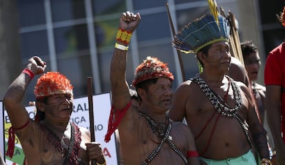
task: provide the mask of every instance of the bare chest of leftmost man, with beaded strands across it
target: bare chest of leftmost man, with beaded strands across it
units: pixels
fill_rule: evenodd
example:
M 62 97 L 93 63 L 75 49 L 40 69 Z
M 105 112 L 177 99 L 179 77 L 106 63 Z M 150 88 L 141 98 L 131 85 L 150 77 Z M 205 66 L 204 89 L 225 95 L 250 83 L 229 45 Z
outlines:
M 74 134 L 67 131 L 66 135 L 56 139 L 54 135 L 39 127 L 35 130 L 31 143 L 25 143 L 23 146 L 28 164 L 89 164 L 85 149 L 87 140 L 85 137 L 78 139 L 80 133 Z

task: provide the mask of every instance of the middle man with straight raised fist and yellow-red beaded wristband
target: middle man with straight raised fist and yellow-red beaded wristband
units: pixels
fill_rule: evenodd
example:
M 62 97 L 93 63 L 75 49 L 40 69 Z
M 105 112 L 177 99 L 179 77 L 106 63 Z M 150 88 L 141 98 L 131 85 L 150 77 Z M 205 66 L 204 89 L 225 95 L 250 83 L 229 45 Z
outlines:
M 125 69 L 129 39 L 139 22 L 139 13 L 123 12 L 120 17 L 110 68 L 112 110 L 105 141 L 109 141 L 118 126 L 126 165 L 199 164 L 189 128 L 180 122 L 172 122 L 166 115 L 171 104 L 173 81 L 167 64 L 147 57 L 136 68 L 132 86 L 140 97 L 140 106 L 131 104 Z

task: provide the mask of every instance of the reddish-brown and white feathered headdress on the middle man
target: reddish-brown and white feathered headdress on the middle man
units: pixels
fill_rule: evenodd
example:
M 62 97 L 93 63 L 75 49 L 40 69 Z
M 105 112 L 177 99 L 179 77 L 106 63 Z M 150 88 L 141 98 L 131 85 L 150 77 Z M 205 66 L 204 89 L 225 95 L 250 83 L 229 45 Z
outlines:
M 136 68 L 132 86 L 145 81 L 147 79 L 155 79 L 158 77 L 167 77 L 173 81 L 174 77 L 167 64 L 163 63 L 156 57 L 147 57 L 143 62 Z

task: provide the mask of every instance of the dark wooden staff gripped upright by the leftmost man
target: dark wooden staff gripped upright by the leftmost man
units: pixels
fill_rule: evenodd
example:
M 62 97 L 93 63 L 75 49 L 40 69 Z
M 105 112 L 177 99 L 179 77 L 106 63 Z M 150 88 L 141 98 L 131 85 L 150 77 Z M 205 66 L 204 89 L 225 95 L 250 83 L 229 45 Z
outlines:
M 92 77 L 87 77 L 87 95 L 88 95 L 88 105 L 89 105 L 89 130 L 91 135 L 91 142 L 95 142 Z M 95 164 L 96 161 L 92 160 L 92 165 Z

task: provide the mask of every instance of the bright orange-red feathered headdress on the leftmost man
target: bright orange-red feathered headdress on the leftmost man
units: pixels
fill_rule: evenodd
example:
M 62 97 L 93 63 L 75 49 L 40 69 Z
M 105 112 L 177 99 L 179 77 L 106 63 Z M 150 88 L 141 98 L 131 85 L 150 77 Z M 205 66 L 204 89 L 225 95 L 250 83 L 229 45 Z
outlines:
M 70 80 L 59 72 L 47 72 L 42 75 L 34 86 L 36 99 L 54 94 L 70 94 L 73 96 Z

